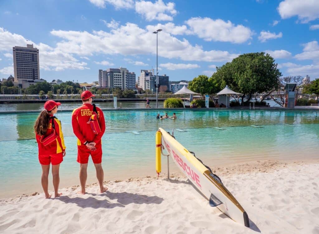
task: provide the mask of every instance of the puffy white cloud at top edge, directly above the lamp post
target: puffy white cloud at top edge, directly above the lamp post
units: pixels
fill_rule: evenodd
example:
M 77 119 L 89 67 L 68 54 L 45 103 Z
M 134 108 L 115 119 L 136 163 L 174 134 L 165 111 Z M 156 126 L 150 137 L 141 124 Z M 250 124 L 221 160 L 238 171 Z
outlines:
M 169 2 L 165 4 L 162 0 L 157 0 L 155 3 L 150 1 L 139 1 L 135 3 L 135 11 L 141 14 L 147 21 L 163 20 L 172 21 L 176 15 L 175 4 Z

